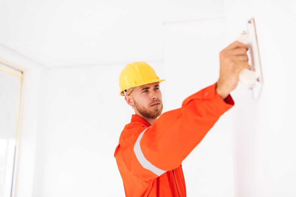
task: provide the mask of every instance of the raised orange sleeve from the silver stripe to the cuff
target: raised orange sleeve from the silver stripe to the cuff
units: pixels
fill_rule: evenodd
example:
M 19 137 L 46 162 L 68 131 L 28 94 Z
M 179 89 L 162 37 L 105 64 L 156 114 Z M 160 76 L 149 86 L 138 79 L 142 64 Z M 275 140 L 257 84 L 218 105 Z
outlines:
M 223 100 L 217 94 L 216 84 L 187 97 L 181 108 L 163 113 L 144 132 L 139 144 L 152 165 L 165 171 L 180 166 L 219 117 L 234 105 L 230 95 Z

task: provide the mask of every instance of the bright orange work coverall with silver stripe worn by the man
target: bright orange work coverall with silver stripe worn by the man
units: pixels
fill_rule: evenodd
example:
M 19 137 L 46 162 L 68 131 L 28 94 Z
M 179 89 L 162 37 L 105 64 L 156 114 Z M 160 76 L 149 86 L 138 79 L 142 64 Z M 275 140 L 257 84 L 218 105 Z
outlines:
M 186 196 L 182 161 L 234 101 L 217 94 L 216 84 L 187 97 L 182 107 L 151 125 L 132 115 L 120 134 L 114 157 L 126 196 Z

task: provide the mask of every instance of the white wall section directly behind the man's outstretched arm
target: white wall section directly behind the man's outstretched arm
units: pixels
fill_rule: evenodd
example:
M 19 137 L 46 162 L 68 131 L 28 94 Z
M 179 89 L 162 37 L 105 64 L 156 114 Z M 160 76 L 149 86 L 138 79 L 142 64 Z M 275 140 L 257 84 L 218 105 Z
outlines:
M 167 23 L 165 28 L 166 104 L 182 101 L 214 84 L 219 52 L 225 47 L 225 20 Z M 182 163 L 187 196 L 234 196 L 231 112 L 227 111 Z

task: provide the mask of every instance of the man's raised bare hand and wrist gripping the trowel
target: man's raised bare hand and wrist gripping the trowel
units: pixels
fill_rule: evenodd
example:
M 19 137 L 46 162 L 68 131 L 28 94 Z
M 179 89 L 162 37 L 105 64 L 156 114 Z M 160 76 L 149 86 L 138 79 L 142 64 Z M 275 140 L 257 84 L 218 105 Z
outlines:
M 216 92 L 223 100 L 237 87 L 239 72 L 242 69 L 251 69 L 247 50 L 247 45 L 235 41 L 220 52 L 220 77 Z

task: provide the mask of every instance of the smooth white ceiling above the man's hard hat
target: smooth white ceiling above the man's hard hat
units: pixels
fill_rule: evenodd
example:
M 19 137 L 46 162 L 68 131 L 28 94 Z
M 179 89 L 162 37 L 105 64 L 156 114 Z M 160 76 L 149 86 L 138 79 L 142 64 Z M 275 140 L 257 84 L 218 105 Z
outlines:
M 163 60 L 163 23 L 224 17 L 223 0 L 0 0 L 0 44 L 47 67 Z

